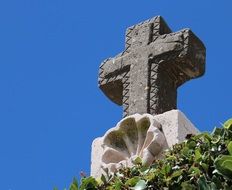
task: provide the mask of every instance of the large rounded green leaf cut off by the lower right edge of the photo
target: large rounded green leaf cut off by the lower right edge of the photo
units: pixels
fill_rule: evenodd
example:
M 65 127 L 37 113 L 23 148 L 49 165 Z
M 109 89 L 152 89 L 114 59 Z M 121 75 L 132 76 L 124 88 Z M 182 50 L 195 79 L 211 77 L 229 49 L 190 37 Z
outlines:
M 214 162 L 217 172 L 229 179 L 232 178 L 232 156 L 219 156 Z

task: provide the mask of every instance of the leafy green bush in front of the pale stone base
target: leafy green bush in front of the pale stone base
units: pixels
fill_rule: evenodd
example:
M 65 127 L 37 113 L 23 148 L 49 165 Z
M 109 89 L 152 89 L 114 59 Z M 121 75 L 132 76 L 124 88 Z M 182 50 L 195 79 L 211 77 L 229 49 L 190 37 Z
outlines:
M 164 153 L 164 159 L 145 167 L 141 159 L 100 179 L 84 177 L 70 190 L 232 189 L 232 119 L 211 134 L 189 136 Z

